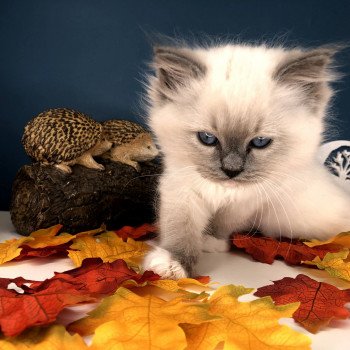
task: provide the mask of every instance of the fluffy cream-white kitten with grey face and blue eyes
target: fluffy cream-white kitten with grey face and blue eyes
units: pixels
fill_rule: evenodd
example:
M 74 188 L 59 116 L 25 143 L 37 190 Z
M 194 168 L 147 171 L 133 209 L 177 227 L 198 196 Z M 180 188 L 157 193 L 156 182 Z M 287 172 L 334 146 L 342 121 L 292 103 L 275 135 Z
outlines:
M 350 230 L 350 198 L 316 160 L 336 47 L 157 47 L 149 125 L 164 155 L 159 246 L 145 268 L 194 274 L 232 232 L 325 239 Z

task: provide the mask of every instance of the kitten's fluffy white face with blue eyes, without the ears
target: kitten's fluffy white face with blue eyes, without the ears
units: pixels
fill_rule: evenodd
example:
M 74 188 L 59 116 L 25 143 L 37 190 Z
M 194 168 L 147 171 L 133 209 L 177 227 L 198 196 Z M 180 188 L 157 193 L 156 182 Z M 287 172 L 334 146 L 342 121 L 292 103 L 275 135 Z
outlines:
M 316 87 L 309 81 L 309 91 L 288 84 L 299 72 L 293 63 L 279 67 L 286 60 L 282 50 L 220 49 L 201 50 L 191 58 L 187 53 L 191 61 L 180 65 L 190 66 L 185 79 L 193 76 L 180 87 L 166 80 L 169 75 L 163 77 L 163 96 L 153 104 L 150 124 L 165 157 L 226 184 L 292 176 L 313 159 L 329 89 L 319 82 Z M 294 75 L 281 81 L 278 74 L 288 69 Z

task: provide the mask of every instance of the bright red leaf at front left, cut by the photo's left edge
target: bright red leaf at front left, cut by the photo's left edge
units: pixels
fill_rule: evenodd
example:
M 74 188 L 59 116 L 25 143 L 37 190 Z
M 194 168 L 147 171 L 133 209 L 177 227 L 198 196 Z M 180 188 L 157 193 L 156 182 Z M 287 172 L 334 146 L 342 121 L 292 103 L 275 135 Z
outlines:
M 20 282 L 24 293 L 4 286 L 0 289 L 0 327 L 6 336 L 16 336 L 28 327 L 51 323 L 66 306 L 95 300 L 79 293 L 71 283 L 60 280 L 43 283 L 34 291 L 24 287 L 23 280 Z

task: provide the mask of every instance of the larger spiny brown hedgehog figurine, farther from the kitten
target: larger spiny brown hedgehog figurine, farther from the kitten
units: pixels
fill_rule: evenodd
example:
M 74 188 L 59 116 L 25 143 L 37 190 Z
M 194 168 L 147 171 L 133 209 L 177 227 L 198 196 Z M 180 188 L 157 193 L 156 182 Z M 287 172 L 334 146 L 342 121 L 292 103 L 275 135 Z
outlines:
M 93 156 L 107 152 L 112 143 L 103 135 L 103 127 L 87 115 L 68 108 L 40 113 L 24 128 L 22 144 L 35 161 L 55 165 L 71 173 L 71 165 L 104 170 Z

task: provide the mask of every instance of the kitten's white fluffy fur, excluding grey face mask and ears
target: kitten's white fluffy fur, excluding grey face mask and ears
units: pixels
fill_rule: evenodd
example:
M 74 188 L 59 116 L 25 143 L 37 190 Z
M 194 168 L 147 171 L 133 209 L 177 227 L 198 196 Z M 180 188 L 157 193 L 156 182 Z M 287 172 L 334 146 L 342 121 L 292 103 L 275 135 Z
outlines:
M 322 96 L 311 111 L 302 102 L 302 89 L 272 78 L 277 66 L 300 50 L 226 45 L 189 52 L 206 67 L 203 78 L 168 91 L 166 101 L 157 95 L 158 78 L 150 78 L 149 125 L 165 165 L 159 184 L 160 247 L 167 252 L 157 248 L 150 253 L 145 268 L 164 277 L 182 277 L 184 270 L 175 259 L 178 253 L 196 258 L 201 250 L 227 249 L 225 242 L 203 238 L 209 220 L 214 235 L 226 241 L 234 231 L 253 229 L 273 237 L 305 239 L 350 230 L 349 197 L 316 160 L 332 95 L 331 73 L 324 70 L 317 77 Z M 278 126 L 293 142 L 289 152 L 268 163 L 266 176 L 255 182 L 209 180 L 197 171 L 186 145 L 190 133 L 211 131 L 213 116 L 218 127 L 229 123 L 228 118 L 249 124 L 255 116 L 264 116 L 265 134 L 277 139 Z

